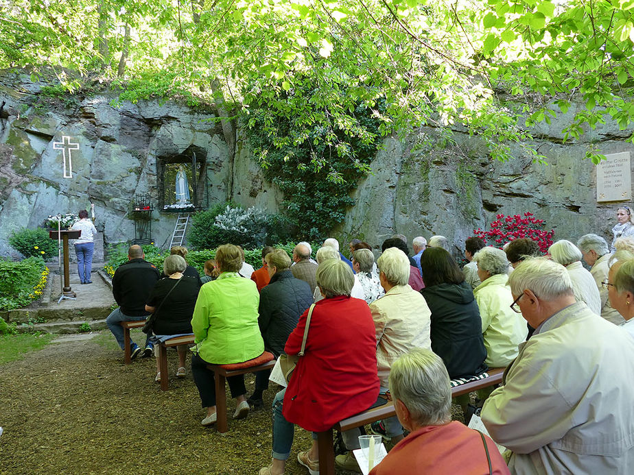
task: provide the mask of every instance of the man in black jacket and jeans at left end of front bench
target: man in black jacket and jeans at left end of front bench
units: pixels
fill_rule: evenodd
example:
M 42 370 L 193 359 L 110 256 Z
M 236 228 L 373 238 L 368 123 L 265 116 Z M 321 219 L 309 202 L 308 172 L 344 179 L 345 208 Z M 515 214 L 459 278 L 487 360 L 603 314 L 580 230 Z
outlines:
M 130 246 L 128 262 L 117 267 L 113 276 L 113 295 L 119 308 L 108 315 L 106 324 L 115 335 L 121 350 L 124 350 L 124 329 L 121 327 L 121 321 L 144 320 L 148 316 L 148 312 L 145 311 L 145 302 L 148 302 L 150 292 L 161 276 L 156 266 L 143 258 L 145 254 L 141 246 Z M 152 354 L 152 343 L 149 338 L 150 335 L 145 340 L 143 356 Z M 134 341 L 131 341 L 130 345 L 132 358 L 136 358 L 141 348 Z

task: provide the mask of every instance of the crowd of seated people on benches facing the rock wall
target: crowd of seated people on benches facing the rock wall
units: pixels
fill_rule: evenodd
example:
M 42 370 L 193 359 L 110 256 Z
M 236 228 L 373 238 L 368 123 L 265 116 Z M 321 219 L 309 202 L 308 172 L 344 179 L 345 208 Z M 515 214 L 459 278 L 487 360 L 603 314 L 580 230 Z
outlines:
M 375 259 L 354 239 L 348 259 L 329 238 L 313 260 L 309 243 L 298 243 L 292 258 L 267 246 L 253 269 L 241 247 L 225 244 L 202 278 L 187 265 L 187 249 L 174 247 L 161 278 L 133 245 L 113 277 L 119 308 L 108 328 L 124 349 L 121 322 L 152 315 L 145 347 L 130 343 L 132 358 L 193 334 L 203 426 L 217 421 L 207 365 L 244 363 L 265 350 L 300 354 L 288 386 L 271 395 L 272 462 L 260 475 L 284 473 L 295 425 L 313 433 L 298 463 L 318 474 L 316 434 L 389 398 L 396 416 L 371 430 L 395 445 L 373 475 L 634 471 L 632 237 L 615 239 L 611 253 L 602 237 L 586 234 L 576 245 L 557 241 L 548 256 L 530 239 L 502 250 L 469 238 L 463 269 L 444 236 L 417 236 L 412 253 L 402 235 L 380 247 Z M 177 350 L 182 377 L 187 347 Z M 489 368 L 506 368 L 500 387 L 478 391 L 491 438 L 451 421 L 451 387 Z M 244 376 L 227 378 L 234 419 L 264 405 L 269 377 L 257 372 L 248 397 Z M 467 413 L 468 395 L 454 402 Z M 339 467 L 360 472 L 352 452 L 359 435 L 342 433 Z

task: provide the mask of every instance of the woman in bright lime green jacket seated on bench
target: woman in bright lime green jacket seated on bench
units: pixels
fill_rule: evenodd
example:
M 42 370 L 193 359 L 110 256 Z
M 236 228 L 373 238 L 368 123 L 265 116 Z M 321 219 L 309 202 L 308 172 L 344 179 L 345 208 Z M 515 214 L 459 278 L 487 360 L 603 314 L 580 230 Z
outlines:
M 218 247 L 215 262 L 220 276 L 200 288 L 191 318 L 196 341 L 191 373 L 202 407 L 207 408 L 207 417 L 202 419 L 203 426 L 216 422 L 214 377 L 207 365 L 242 363 L 264 352 L 257 324 L 257 287 L 253 280 L 237 273 L 242 266 L 242 254 L 235 245 L 224 244 Z M 231 397 L 236 400 L 233 418 L 244 419 L 249 412 L 244 376 L 230 376 L 226 380 Z

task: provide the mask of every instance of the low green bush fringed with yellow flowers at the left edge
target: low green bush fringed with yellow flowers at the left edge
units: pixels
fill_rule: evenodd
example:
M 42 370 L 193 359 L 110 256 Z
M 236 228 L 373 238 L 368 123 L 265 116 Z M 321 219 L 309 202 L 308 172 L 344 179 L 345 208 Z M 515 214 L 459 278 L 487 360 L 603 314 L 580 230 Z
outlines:
M 19 263 L 0 260 L 0 310 L 14 310 L 37 300 L 46 287 L 48 275 L 49 269 L 38 257 Z

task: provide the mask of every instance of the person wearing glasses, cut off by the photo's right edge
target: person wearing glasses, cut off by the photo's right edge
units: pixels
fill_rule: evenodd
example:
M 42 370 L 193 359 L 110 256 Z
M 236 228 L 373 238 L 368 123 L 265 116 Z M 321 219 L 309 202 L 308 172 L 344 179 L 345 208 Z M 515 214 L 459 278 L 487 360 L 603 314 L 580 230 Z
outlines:
M 634 254 L 627 251 L 614 254 L 603 287 L 609 288 L 609 300 L 624 319 L 622 327 L 634 337 Z

